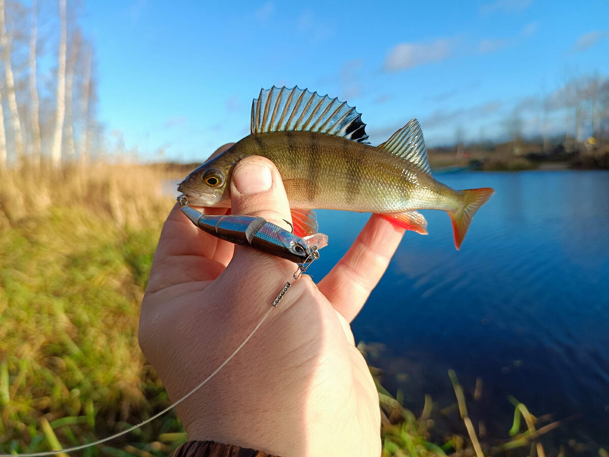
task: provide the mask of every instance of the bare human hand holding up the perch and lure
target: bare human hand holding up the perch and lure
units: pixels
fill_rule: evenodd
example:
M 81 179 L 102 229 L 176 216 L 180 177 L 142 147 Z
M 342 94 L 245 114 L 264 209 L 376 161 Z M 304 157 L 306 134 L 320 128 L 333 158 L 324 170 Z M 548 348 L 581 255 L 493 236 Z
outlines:
M 289 228 L 281 176 L 266 158 L 236 165 L 231 195 L 233 214 Z M 292 281 L 290 261 L 202 232 L 176 206 L 163 227 L 139 325 L 141 348 L 172 399 L 226 360 L 292 282 L 253 338 L 178 405 L 188 438 L 281 456 L 378 456 L 378 394 L 349 324 L 403 233 L 371 216 L 316 286 L 308 275 Z

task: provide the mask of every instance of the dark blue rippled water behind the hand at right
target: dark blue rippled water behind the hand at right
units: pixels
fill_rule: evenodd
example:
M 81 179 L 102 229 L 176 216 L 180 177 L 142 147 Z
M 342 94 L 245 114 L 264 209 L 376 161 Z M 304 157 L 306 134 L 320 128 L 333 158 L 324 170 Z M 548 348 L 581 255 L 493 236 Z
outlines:
M 478 417 L 505 436 L 514 395 L 534 414 L 579 413 L 546 440 L 609 445 L 609 174 L 471 172 L 438 176 L 496 194 L 474 217 L 459 252 L 448 216 L 423 211 L 428 236 L 407 233 L 387 274 L 353 322 L 356 340 L 387 349 L 375 364 L 412 408 L 423 395 L 448 405 L 446 370 L 482 377 Z M 330 245 L 323 277 L 367 214 L 319 211 Z

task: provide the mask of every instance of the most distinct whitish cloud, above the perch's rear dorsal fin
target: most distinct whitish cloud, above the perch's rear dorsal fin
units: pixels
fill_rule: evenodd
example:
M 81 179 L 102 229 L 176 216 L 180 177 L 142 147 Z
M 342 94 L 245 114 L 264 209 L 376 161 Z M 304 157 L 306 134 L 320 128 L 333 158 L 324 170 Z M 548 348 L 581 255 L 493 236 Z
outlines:
M 387 71 L 400 71 L 424 63 L 440 62 L 450 57 L 456 41 L 454 38 L 438 38 L 429 43 L 400 43 L 390 49 L 384 67 Z

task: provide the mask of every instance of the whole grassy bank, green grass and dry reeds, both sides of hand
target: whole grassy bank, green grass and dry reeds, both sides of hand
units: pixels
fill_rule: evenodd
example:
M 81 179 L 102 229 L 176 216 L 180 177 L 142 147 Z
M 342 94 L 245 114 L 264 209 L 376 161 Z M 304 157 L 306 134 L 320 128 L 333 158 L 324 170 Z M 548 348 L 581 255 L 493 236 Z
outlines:
M 95 441 L 169 404 L 136 335 L 153 252 L 174 204 L 161 183 L 176 178 L 164 168 L 101 163 L 2 172 L 1 452 Z M 529 453 L 537 419 L 516 406 L 526 420 L 511 436 L 506 430 L 500 444 L 478 445 L 482 429 L 473 430 L 453 381 L 454 405 L 426 398 L 418 416 L 379 384 L 385 456 Z M 445 419 L 453 425 L 438 428 Z M 169 414 L 79 455 L 167 455 L 184 439 Z

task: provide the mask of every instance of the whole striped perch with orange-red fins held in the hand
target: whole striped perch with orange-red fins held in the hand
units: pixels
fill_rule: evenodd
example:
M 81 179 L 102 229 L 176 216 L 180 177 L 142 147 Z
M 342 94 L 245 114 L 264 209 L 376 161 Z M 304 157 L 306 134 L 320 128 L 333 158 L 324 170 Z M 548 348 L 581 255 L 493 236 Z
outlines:
M 233 167 L 261 155 L 281 173 L 298 236 L 317 233 L 314 208 L 378 213 L 421 234 L 428 233 L 427 221 L 417 210 L 443 210 L 459 249 L 474 213 L 494 193 L 453 190 L 435 180 L 417 119 L 375 147 L 366 142 L 361 114 L 347 102 L 273 86 L 253 101 L 251 122 L 250 135 L 180 183 L 189 204 L 230 207 Z

